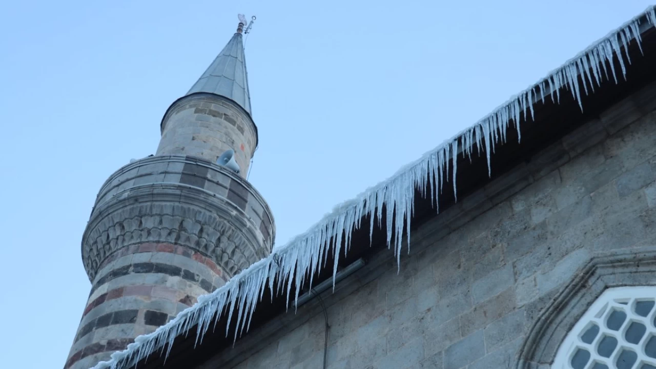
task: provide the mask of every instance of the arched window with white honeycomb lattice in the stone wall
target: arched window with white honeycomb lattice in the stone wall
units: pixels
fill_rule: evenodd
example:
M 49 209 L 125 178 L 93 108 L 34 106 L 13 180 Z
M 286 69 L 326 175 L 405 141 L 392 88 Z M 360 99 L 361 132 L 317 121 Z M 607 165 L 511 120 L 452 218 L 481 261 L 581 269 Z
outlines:
M 567 334 L 552 369 L 656 369 L 656 287 L 605 290 Z

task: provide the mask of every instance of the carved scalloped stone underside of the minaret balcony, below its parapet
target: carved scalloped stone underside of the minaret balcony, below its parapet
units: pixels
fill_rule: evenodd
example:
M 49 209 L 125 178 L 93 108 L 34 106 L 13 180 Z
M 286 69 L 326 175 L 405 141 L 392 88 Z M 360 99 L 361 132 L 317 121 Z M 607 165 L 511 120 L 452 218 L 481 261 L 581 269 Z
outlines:
M 149 200 L 154 196 L 151 192 Z M 182 194 L 178 198 L 180 196 Z M 256 238 L 255 230 L 234 222 L 230 214 L 221 216 L 226 214 L 194 204 L 138 202 L 139 197 L 138 194 L 135 198 L 125 197 L 119 200 L 127 203 L 125 206 L 113 211 L 98 211 L 89 221 L 83 236 L 82 255 L 91 280 L 110 253 L 144 242 L 166 242 L 192 248 L 214 259 L 229 276 L 266 256 L 262 248 L 256 247 L 261 240 Z

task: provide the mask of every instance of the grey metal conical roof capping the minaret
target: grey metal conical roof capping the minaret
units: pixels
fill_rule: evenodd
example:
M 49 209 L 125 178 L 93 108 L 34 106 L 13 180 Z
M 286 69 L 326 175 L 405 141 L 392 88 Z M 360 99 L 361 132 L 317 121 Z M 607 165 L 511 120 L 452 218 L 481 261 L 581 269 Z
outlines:
M 228 45 L 216 56 L 187 95 L 192 93 L 215 93 L 230 98 L 251 114 L 251 95 L 241 33 L 232 36 Z

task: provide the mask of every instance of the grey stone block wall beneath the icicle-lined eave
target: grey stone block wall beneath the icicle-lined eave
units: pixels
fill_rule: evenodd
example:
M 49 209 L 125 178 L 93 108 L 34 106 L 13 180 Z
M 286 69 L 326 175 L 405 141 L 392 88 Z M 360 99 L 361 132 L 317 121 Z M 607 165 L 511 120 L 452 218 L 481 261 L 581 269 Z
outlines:
M 544 312 L 656 283 L 626 264 L 656 250 L 655 107 L 651 85 L 422 226 L 399 274 L 384 250 L 323 293 L 327 368 L 547 369 L 570 323 L 549 330 L 560 320 Z M 591 260 L 609 254 L 624 269 L 598 288 Z M 573 317 L 587 307 L 571 305 Z M 324 324 L 311 301 L 200 368 L 321 368 Z

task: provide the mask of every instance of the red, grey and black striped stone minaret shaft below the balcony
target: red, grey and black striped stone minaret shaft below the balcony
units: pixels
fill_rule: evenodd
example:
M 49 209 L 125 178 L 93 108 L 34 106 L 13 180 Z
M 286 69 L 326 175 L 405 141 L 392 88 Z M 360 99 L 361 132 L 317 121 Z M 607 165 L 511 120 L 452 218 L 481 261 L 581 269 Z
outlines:
M 216 263 L 185 246 L 147 243 L 117 251 L 94 278 L 65 368 L 106 360 L 225 282 Z

